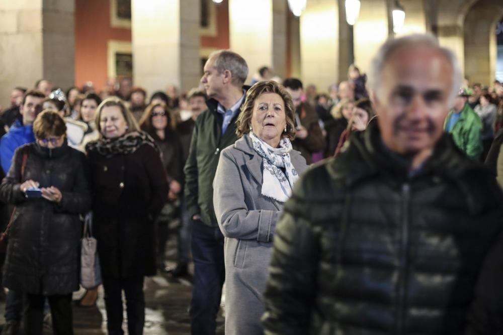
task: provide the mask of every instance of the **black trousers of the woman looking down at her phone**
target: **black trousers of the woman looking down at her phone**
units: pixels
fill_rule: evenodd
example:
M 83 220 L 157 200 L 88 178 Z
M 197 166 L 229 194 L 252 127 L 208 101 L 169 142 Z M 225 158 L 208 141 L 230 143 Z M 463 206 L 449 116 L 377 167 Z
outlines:
M 24 325 L 26 335 L 42 335 L 45 296 L 26 294 Z M 71 293 L 49 295 L 54 335 L 73 335 Z

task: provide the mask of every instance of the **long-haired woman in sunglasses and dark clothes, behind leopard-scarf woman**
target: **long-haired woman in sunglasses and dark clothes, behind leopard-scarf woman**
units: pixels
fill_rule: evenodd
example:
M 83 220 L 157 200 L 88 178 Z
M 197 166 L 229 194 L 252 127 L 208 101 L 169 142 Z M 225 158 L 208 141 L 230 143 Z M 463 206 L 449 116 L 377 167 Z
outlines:
M 154 141 L 161 153 L 164 169 L 167 175 L 167 182 L 170 185 L 168 197 L 157 217 L 157 269 L 166 270 L 164 265 L 164 251 L 168 238 L 169 222 L 178 213 L 179 204 L 176 203 L 178 195 L 182 190 L 182 144 L 178 134 L 175 132 L 171 115 L 167 106 L 163 102 L 152 103 L 145 108 L 140 119 L 140 128 L 147 132 Z

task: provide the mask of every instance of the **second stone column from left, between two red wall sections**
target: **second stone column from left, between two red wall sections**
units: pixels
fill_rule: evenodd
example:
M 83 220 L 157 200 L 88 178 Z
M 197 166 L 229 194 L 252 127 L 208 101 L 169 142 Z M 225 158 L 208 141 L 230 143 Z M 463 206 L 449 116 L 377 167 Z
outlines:
M 198 0 L 132 0 L 133 80 L 150 94 L 175 84 L 182 90 L 198 86 Z

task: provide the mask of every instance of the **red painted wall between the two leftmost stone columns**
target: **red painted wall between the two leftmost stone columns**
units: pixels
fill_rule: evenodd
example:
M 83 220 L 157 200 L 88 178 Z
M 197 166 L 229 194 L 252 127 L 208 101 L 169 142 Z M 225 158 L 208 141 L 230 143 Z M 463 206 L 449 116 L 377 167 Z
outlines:
M 75 85 L 107 79 L 108 40 L 131 41 L 131 30 L 110 26 L 109 0 L 75 0 Z

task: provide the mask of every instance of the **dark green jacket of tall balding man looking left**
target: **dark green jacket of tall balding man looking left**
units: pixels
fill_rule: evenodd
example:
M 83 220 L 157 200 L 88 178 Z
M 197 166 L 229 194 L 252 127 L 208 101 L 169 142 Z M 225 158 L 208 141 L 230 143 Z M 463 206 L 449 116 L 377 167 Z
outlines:
M 239 113 L 222 135 L 223 116 L 217 112 L 218 101 L 209 99 L 206 104 L 208 109 L 196 120 L 184 168 L 185 200 L 190 217 L 200 214 L 204 224 L 218 227 L 213 209 L 213 179 L 220 152 L 237 141 L 236 120 Z

